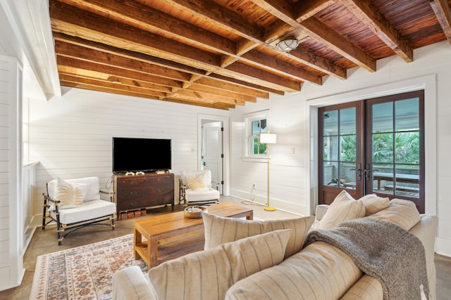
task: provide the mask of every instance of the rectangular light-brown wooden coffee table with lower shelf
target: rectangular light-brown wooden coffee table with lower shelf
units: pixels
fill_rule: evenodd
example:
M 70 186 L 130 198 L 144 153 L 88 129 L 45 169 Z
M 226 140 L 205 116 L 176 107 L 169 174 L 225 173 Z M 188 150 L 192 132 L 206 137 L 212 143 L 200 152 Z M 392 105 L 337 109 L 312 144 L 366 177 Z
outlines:
M 212 205 L 207 211 L 216 216 L 254 218 L 252 209 L 232 203 Z M 204 249 L 203 219 L 185 218 L 183 211 L 140 219 L 133 227 L 135 259 L 141 257 L 148 268 Z

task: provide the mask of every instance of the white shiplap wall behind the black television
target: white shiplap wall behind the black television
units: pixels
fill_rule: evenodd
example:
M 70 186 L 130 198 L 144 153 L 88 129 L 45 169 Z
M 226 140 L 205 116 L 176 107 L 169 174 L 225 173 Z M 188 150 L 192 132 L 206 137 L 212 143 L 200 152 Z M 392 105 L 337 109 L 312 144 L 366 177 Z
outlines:
M 224 110 L 66 88 L 61 98 L 31 100 L 29 113 L 30 161 L 40 162 L 36 215 L 42 214 L 46 181 L 58 176 L 98 176 L 101 188 L 111 187 L 113 136 L 171 138 L 177 176 L 197 169 L 198 115 L 228 116 Z

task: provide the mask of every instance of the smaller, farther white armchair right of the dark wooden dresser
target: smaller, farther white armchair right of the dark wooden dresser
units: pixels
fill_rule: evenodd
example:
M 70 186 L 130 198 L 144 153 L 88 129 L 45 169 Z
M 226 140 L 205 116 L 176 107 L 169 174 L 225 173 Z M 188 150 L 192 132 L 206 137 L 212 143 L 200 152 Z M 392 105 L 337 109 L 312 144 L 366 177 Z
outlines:
M 185 206 L 195 204 L 218 204 L 218 183 L 211 187 L 211 171 L 181 171 L 180 172 L 180 203 Z

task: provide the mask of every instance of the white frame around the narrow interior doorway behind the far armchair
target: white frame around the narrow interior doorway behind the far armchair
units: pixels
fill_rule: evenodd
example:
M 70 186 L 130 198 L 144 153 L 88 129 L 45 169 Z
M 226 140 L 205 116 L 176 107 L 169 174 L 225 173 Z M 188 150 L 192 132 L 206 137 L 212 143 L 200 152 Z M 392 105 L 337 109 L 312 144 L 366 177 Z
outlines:
M 216 121 L 223 122 L 223 194 L 224 196 L 230 195 L 230 154 L 229 154 L 229 119 L 228 117 L 222 117 L 218 115 L 197 115 L 197 168 L 202 163 L 202 121 Z

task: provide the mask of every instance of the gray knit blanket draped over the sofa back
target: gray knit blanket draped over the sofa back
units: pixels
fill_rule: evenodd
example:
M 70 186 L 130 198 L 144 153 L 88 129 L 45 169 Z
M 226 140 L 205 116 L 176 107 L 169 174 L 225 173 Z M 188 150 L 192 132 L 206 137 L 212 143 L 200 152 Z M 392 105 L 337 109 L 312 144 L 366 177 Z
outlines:
M 311 231 L 305 245 L 316 241 L 338 247 L 362 272 L 381 282 L 383 299 L 421 299 L 421 289 L 429 294 L 423 244 L 400 226 L 355 219 L 331 230 Z

